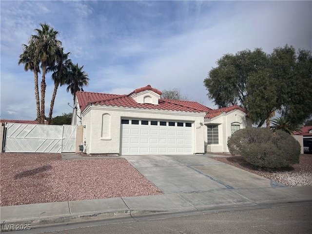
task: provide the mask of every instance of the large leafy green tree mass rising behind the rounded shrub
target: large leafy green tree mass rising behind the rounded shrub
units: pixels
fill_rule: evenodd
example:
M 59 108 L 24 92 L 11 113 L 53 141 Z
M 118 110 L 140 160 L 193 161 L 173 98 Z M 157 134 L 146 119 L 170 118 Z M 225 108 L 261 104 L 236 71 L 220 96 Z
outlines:
M 272 54 L 260 48 L 226 54 L 204 80 L 216 105 L 238 104 L 258 127 L 274 111 L 292 124 L 312 115 L 311 51 L 277 47 Z

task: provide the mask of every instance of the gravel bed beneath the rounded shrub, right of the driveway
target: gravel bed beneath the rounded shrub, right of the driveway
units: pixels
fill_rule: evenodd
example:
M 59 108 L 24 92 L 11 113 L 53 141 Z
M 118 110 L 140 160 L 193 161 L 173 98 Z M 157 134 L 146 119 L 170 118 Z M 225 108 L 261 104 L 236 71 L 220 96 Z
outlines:
M 238 167 L 245 171 L 272 179 L 287 186 L 312 186 L 312 155 L 300 155 L 300 163 L 278 170 L 257 168 L 246 162 L 242 156 L 213 157 L 213 159 Z

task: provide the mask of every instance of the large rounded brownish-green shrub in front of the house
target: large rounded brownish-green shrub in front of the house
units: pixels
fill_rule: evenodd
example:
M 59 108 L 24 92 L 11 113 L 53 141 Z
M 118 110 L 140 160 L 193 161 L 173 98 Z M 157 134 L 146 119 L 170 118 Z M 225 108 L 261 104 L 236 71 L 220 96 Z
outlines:
M 300 144 L 291 135 L 267 128 L 247 128 L 235 132 L 228 139 L 232 155 L 259 167 L 281 168 L 299 163 Z

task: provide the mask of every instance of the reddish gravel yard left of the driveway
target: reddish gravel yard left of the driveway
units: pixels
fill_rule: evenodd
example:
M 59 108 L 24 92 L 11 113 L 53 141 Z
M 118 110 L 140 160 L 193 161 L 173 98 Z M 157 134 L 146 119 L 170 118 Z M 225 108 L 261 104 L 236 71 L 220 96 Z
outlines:
M 1 154 L 1 206 L 162 194 L 125 159 Z

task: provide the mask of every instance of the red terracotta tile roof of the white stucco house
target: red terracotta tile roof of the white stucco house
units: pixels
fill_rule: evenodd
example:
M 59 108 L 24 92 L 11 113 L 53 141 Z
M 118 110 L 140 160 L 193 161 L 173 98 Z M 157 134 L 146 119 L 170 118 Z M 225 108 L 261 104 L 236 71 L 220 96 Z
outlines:
M 213 118 L 222 114 L 223 112 L 227 113 L 234 109 L 239 109 L 246 113 L 246 110 L 237 105 L 213 110 L 195 101 L 159 99 L 158 105 L 154 105 L 150 103 L 137 103 L 133 98 L 130 97 L 134 93 L 139 93 L 145 90 L 152 90 L 153 92 L 156 92 L 157 94 L 161 95 L 160 91 L 152 88 L 150 85 L 136 89 L 135 91 L 131 92 L 128 95 L 104 94 L 104 93 L 82 92 L 82 91 L 78 91 L 76 95 L 78 98 L 78 103 L 81 111 L 83 111 L 88 105 L 105 105 L 105 106 L 185 111 L 197 113 L 205 112 L 206 118 Z

